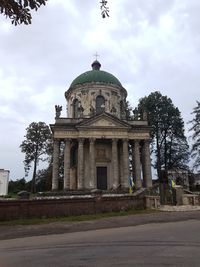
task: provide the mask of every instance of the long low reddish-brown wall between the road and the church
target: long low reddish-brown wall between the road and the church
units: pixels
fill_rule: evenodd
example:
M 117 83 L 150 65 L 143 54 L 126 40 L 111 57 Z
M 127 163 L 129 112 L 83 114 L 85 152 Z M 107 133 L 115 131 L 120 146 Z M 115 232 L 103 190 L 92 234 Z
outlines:
M 152 203 L 155 203 L 152 201 Z M 130 209 L 145 209 L 144 196 L 95 195 L 35 200 L 1 200 L 0 220 L 95 214 Z M 149 202 L 148 202 L 148 208 Z

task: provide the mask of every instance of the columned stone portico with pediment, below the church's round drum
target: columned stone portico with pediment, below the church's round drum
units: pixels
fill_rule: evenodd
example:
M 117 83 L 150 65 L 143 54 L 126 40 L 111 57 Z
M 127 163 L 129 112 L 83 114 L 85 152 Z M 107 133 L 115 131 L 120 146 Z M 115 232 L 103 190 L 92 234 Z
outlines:
M 54 125 L 53 190 L 58 189 L 61 143 L 64 144 L 63 189 L 65 190 L 128 188 L 130 175 L 133 175 L 137 189 L 142 186 L 151 187 L 149 136 L 144 131 L 140 131 L 142 139 L 138 138 L 140 128 L 137 125 L 138 122 L 134 125 L 133 121 L 131 127 L 123 122 L 119 127 L 115 117 L 102 113 L 98 115 L 98 120 L 96 117 L 85 119 L 82 128 L 85 128 L 86 124 L 87 131 L 79 128 L 75 136 L 74 132 L 70 135 L 72 130 L 62 130 L 63 120 L 66 119 L 57 119 L 57 125 Z M 112 126 L 107 126 L 106 122 L 111 123 L 111 121 Z M 140 121 L 140 125 L 142 123 L 146 124 Z M 130 161 L 132 161 L 132 170 Z M 105 181 L 102 181 L 103 185 L 101 185 L 101 179 L 103 180 L 101 177 L 105 177 L 106 186 Z

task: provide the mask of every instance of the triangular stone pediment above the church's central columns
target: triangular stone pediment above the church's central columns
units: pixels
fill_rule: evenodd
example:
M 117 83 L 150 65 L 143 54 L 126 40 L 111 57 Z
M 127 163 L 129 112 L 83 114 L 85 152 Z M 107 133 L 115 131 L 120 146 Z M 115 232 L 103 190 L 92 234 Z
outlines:
M 107 114 L 94 116 L 88 121 L 81 122 L 79 127 L 89 127 L 89 128 L 129 128 L 130 125 L 124 121 L 119 120 L 114 116 L 109 116 Z

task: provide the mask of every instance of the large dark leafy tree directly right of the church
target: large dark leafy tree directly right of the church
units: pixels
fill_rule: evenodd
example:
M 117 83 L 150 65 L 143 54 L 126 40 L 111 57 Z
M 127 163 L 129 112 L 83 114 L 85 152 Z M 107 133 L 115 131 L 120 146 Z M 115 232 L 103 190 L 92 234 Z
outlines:
M 156 155 L 154 167 L 159 179 L 169 169 L 185 169 L 189 157 L 189 146 L 184 134 L 181 113 L 167 96 L 153 92 L 140 99 L 138 110 L 146 111 L 152 127 L 152 152 Z

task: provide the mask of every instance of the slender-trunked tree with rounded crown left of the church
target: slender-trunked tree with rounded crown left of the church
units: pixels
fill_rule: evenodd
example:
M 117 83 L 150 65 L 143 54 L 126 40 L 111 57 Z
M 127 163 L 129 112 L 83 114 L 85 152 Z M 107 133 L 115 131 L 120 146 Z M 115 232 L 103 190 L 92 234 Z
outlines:
M 31 163 L 33 163 L 33 177 L 31 192 L 35 193 L 35 181 L 37 165 L 39 161 L 45 161 L 49 159 L 49 155 L 52 153 L 52 135 L 44 122 L 32 122 L 28 128 L 26 128 L 26 139 L 20 145 L 21 151 L 25 153 L 25 172 L 28 174 Z

